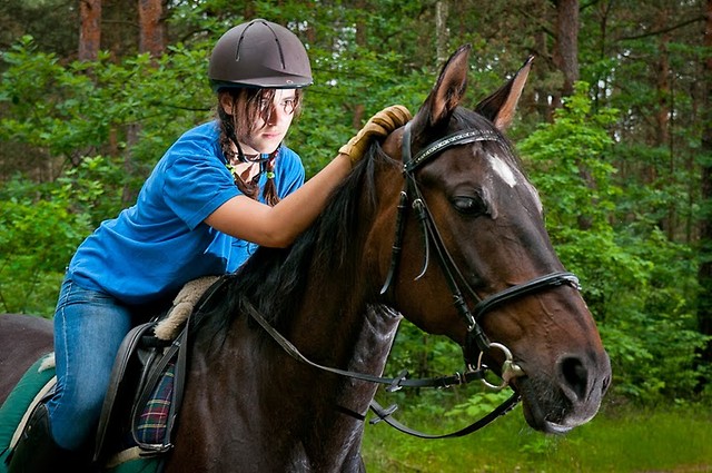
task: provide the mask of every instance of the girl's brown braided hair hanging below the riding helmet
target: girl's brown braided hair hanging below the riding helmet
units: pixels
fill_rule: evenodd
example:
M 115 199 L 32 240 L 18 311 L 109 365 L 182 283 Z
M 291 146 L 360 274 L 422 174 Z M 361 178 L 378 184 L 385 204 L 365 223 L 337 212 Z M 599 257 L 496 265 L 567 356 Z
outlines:
M 231 102 L 233 114 L 229 115 L 225 111 L 222 106 L 222 98 L 228 96 Z M 220 137 L 219 144 L 225 159 L 227 160 L 228 169 L 230 169 L 233 177 L 235 178 L 235 185 L 246 196 L 257 199 L 259 196 L 259 178 L 261 174 L 266 174 L 267 183 L 263 189 L 263 197 L 267 205 L 275 206 L 279 201 L 277 194 L 277 186 L 275 184 L 275 165 L 279 148 L 275 149 L 266 159 L 258 159 L 259 173 L 245 181 L 238 173 L 233 168 L 234 164 L 248 162 L 245 157 L 240 145 L 238 142 L 238 136 L 249 136 L 255 131 L 256 124 L 261 118 L 265 124 L 269 121 L 271 107 L 267 109 L 260 107 L 264 101 L 271 101 L 275 98 L 275 89 L 257 89 L 257 88 L 233 88 L 222 89 L 218 93 L 218 121 L 220 122 Z M 298 114 L 301 104 L 301 90 L 295 90 L 295 109 L 294 114 Z M 241 119 L 240 119 L 241 118 Z M 281 146 L 281 145 L 280 145 Z

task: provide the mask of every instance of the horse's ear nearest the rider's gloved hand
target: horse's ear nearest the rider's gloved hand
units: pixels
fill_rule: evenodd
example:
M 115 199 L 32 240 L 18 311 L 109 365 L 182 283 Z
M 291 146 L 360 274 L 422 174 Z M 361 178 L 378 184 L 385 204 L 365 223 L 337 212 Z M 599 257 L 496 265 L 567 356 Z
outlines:
M 414 129 L 438 128 L 449 120 L 467 89 L 471 50 L 469 45 L 461 46 L 443 66 L 435 87 L 414 118 Z

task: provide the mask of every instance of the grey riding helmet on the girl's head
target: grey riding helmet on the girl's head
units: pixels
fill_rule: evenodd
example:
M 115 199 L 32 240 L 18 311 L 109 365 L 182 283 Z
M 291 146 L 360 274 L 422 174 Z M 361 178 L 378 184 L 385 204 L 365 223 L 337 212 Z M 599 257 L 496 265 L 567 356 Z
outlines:
M 298 89 L 312 85 L 309 57 L 299 38 L 283 26 L 257 19 L 238 24 L 212 49 L 212 90 L 231 87 Z

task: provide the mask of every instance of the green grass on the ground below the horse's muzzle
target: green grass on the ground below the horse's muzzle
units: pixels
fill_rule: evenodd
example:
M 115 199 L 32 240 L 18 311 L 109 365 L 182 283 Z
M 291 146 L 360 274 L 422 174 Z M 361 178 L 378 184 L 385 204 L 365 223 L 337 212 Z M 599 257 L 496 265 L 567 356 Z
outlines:
M 409 416 L 396 415 L 429 433 L 451 432 L 473 421 L 463 418 L 455 425 L 442 415 L 428 422 L 409 421 Z M 366 426 L 363 453 L 369 473 L 712 472 L 712 410 L 607 406 L 592 422 L 563 436 L 534 432 L 524 422 L 521 406 L 462 438 L 422 440 L 379 423 Z

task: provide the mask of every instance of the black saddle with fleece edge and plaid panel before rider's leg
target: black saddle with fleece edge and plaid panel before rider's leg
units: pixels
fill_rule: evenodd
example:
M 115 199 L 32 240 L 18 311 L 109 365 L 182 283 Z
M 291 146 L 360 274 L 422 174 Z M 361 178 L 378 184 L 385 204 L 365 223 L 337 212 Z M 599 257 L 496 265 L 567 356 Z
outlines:
M 188 363 L 191 321 L 215 289 L 217 277 L 189 282 L 162 316 L 132 328 L 117 353 L 97 428 L 93 461 L 117 465 L 160 456 L 172 444 Z M 215 287 L 212 290 L 209 288 Z

